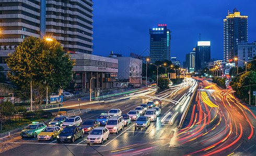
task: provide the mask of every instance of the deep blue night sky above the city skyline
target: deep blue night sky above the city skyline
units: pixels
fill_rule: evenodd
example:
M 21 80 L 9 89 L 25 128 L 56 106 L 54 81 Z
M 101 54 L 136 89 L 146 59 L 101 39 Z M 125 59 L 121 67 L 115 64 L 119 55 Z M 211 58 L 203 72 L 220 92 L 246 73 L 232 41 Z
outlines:
M 256 41 L 256 1 L 97 0 L 94 2 L 94 55 L 110 51 L 149 56 L 149 28 L 167 24 L 171 57 L 185 61 L 201 41 L 211 41 L 211 58 L 223 60 L 223 19 L 235 7 L 248 16 L 248 42 Z M 229 4 L 229 6 L 228 6 Z

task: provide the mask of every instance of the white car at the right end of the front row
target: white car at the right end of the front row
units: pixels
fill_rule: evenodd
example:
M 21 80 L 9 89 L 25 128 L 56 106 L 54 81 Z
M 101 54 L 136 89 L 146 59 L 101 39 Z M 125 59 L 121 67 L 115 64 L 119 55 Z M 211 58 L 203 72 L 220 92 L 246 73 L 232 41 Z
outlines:
M 106 127 L 97 127 L 94 128 L 91 133 L 87 136 L 86 142 L 90 143 L 104 143 L 104 140 L 108 140 L 110 138 L 109 129 Z

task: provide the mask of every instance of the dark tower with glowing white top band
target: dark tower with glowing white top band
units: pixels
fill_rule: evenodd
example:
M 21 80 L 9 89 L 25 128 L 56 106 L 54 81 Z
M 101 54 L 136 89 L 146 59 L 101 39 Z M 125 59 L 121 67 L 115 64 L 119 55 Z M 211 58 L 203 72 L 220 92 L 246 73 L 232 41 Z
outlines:
M 211 60 L 210 41 L 199 41 L 195 47 L 195 70 L 200 71 L 205 68 L 205 64 Z

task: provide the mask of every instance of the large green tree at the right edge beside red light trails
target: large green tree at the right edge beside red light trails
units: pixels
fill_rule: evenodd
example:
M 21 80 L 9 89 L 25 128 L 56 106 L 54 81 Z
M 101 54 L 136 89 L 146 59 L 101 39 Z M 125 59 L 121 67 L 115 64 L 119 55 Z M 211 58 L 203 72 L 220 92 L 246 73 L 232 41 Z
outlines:
M 255 105 L 253 91 L 256 91 L 256 72 L 249 71 L 240 76 L 234 77 L 230 82 L 230 86 L 235 90 L 235 95 L 249 103 L 249 90 L 251 89 L 251 105 Z M 253 98 L 254 97 L 254 98 Z

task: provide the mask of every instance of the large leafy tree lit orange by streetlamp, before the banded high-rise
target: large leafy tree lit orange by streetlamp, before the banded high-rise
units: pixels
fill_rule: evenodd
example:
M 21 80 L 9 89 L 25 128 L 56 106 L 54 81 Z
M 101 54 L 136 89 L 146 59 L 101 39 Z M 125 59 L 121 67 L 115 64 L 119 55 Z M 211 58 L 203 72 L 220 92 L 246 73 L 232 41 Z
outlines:
M 56 40 L 30 36 L 8 56 L 8 77 L 17 86 L 18 96 L 29 99 L 32 86 L 36 105 L 41 105 L 46 98 L 46 87 L 49 93 L 56 93 L 71 82 L 75 60 L 70 59 L 70 54 L 66 54 Z

